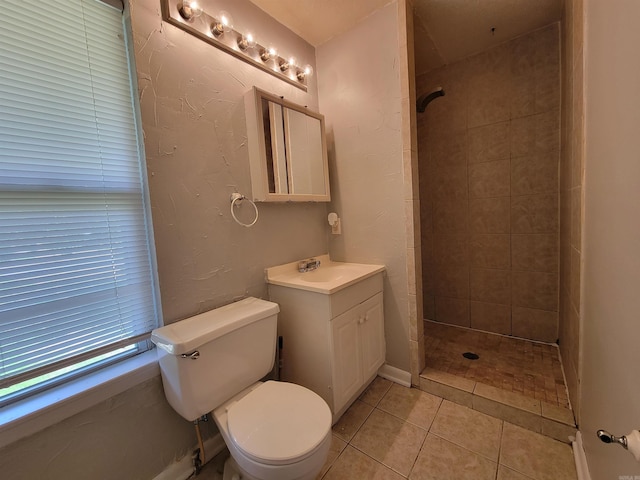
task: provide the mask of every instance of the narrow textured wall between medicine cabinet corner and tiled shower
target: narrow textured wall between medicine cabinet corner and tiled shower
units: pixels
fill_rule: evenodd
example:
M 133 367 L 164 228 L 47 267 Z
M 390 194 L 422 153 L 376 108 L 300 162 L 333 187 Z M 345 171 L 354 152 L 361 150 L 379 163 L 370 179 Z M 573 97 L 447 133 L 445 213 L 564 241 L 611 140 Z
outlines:
M 409 371 L 407 225 L 398 6 L 393 2 L 317 49 L 332 203 L 333 258 L 382 263 L 387 362 Z M 405 72 L 406 74 L 406 72 Z

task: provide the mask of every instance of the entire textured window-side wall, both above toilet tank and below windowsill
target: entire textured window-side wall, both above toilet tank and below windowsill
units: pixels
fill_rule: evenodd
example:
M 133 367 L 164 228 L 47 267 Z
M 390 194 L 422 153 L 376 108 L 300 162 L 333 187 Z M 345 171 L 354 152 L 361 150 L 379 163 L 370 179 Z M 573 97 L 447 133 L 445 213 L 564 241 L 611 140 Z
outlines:
M 311 46 L 248 1 L 202 3 L 314 64 Z M 317 109 L 315 79 L 304 93 L 163 23 L 158 0 L 133 0 L 131 17 L 164 320 L 266 298 L 265 267 L 328 251 L 327 208 L 261 204 L 255 227 L 233 222 L 229 195 L 250 191 L 242 96 L 256 85 Z M 0 476 L 149 479 L 195 444 L 158 377 L 1 449 Z

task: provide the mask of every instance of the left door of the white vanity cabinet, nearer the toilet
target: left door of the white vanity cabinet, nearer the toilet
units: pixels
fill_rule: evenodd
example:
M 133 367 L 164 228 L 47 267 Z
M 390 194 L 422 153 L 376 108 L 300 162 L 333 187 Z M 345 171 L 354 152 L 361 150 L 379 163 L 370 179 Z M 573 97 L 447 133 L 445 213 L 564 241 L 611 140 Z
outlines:
M 331 321 L 333 342 L 333 408 L 340 410 L 362 386 L 362 364 L 358 341 L 359 308 L 352 308 Z

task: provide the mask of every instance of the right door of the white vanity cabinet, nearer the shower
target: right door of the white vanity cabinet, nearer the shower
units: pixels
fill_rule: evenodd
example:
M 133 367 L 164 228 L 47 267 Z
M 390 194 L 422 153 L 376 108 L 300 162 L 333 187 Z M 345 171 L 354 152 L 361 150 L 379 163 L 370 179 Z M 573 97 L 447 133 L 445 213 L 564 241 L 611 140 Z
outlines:
M 359 310 L 362 380 L 366 381 L 376 374 L 385 359 L 382 293 L 378 293 L 364 302 Z

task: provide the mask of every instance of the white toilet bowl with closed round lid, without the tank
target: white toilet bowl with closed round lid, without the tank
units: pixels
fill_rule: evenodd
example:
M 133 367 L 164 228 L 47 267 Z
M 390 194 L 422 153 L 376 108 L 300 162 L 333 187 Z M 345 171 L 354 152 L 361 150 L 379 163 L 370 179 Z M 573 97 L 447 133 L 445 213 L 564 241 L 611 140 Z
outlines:
M 215 409 L 213 418 L 233 459 L 225 477 L 237 468 L 247 480 L 312 480 L 331 447 L 326 402 L 292 383 L 257 383 Z

